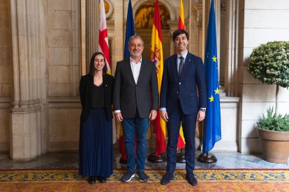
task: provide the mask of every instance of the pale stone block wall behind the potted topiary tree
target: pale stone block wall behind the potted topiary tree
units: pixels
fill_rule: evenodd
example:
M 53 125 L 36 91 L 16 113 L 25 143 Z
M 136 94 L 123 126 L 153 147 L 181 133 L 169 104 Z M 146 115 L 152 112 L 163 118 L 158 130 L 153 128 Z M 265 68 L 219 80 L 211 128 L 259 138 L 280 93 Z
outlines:
M 242 93 L 239 114 L 239 141 L 241 152 L 260 152 L 260 141 L 255 127 L 256 122 L 266 113 L 269 106 L 275 106 L 276 85 L 262 84 L 247 72 L 246 65 L 253 48 L 273 40 L 289 40 L 289 3 L 286 0 L 241 1 L 239 7 L 239 63 L 240 90 Z M 279 111 L 288 113 L 289 91 L 281 89 Z

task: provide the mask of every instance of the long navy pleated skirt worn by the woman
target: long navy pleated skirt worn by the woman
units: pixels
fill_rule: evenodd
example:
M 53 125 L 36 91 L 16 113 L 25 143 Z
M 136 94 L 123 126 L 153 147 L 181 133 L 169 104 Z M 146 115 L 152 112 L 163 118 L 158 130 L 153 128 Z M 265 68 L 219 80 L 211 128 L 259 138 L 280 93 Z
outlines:
M 82 177 L 108 178 L 113 171 L 112 120 L 105 108 L 91 109 L 87 120 L 80 121 L 78 169 Z

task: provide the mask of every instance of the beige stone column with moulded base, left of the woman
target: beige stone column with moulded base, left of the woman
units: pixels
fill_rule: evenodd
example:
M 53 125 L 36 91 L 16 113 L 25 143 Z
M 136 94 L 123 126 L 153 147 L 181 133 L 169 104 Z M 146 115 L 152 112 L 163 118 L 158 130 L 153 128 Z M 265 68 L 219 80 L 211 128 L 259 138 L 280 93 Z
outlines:
M 10 157 L 31 160 L 47 152 L 45 1 L 11 0 L 13 109 Z

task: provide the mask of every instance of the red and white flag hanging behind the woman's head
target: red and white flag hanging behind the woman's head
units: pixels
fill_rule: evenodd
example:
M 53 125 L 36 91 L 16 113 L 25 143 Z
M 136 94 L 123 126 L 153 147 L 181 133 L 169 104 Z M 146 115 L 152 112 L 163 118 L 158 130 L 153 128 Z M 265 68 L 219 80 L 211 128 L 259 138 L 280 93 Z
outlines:
M 112 74 L 110 65 L 110 48 L 108 47 L 108 28 L 106 26 L 103 0 L 101 0 L 101 22 L 99 24 L 98 51 L 104 54 L 106 66 L 108 67 L 108 74 Z

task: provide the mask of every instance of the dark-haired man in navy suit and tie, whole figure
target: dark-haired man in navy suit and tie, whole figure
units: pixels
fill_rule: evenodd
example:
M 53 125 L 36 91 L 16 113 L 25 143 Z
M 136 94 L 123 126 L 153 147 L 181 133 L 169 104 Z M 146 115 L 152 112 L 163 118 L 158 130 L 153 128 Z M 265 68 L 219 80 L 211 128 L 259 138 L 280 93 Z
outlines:
M 161 118 L 167 122 L 167 173 L 161 184 L 173 179 L 176 168 L 177 139 L 179 127 L 183 127 L 186 142 L 186 179 L 197 184 L 193 175 L 195 168 L 195 123 L 205 119 L 206 86 L 202 59 L 186 49 L 188 33 L 177 29 L 172 34 L 177 54 L 165 60 L 161 83 Z M 198 86 L 198 93 L 197 87 Z

